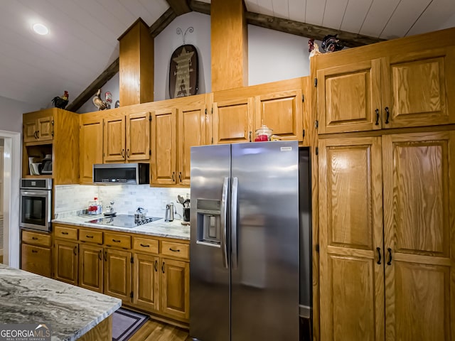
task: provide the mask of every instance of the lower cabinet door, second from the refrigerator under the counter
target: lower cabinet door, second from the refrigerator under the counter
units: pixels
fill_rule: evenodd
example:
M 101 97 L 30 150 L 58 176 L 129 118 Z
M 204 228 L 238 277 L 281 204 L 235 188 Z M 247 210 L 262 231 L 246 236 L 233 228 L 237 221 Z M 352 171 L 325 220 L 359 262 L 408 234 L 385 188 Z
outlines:
M 133 264 L 133 304 L 159 310 L 159 258 L 134 254 Z

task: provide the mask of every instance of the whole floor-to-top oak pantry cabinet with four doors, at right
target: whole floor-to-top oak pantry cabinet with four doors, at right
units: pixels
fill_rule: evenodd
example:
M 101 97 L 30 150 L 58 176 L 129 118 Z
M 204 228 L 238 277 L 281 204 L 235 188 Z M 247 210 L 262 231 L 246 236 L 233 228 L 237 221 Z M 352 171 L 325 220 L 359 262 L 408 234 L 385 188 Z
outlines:
M 311 61 L 321 340 L 455 340 L 454 33 Z

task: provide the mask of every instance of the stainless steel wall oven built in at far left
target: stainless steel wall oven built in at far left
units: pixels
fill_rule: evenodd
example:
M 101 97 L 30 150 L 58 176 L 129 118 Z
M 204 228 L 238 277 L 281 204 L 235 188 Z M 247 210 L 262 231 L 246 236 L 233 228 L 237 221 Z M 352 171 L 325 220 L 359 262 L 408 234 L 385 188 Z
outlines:
M 20 227 L 50 232 L 52 179 L 21 179 Z

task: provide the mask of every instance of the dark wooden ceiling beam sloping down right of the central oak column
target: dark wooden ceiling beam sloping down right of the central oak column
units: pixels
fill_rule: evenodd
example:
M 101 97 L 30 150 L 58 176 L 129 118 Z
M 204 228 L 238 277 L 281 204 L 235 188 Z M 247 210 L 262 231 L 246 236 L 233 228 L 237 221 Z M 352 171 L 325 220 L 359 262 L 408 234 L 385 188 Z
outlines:
M 263 28 L 269 28 L 275 31 L 284 33 L 295 34 L 296 36 L 314 38 L 316 40 L 323 40 L 325 36 L 337 34 L 337 38 L 341 40 L 343 45 L 348 48 L 355 48 L 356 46 L 369 45 L 379 43 L 384 39 L 374 38 L 370 36 L 363 36 L 361 34 L 340 31 L 333 28 L 323 26 L 311 25 L 309 23 L 301 23 L 299 21 L 292 21 L 289 19 L 275 18 L 273 16 L 266 16 L 253 12 L 245 13 L 247 23 Z

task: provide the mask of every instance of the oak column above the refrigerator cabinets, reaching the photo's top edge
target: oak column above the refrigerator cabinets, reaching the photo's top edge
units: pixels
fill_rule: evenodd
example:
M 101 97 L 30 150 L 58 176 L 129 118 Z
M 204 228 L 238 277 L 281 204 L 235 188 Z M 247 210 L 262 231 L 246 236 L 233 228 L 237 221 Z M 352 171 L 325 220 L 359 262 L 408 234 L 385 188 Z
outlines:
M 248 32 L 243 0 L 210 4 L 212 91 L 248 85 Z

